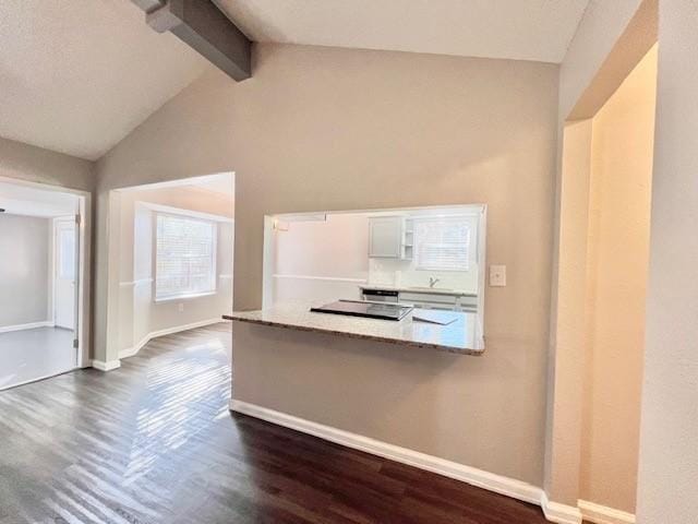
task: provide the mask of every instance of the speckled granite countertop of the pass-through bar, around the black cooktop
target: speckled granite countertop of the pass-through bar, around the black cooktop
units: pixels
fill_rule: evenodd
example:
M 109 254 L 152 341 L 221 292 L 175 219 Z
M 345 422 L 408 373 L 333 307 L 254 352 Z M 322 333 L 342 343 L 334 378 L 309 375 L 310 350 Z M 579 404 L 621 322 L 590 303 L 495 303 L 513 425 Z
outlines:
M 236 311 L 222 318 L 238 322 L 432 348 L 460 355 L 478 356 L 484 352 L 483 337 L 477 333 L 479 330 L 476 313 L 448 311 L 448 314 L 456 317 L 456 321 L 440 325 L 412 320 L 416 312 L 422 311 L 429 314 L 430 310 L 416 308 L 402 320 L 396 322 L 310 311 L 312 306 L 321 305 L 322 302 L 280 303 L 265 310 Z

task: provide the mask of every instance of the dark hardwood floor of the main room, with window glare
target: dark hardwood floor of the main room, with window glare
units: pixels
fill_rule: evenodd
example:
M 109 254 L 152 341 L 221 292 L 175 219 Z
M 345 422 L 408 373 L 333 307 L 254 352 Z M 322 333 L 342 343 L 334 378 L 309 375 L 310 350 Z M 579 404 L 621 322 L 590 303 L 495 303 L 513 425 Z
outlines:
M 228 324 L 0 393 L 0 523 L 538 524 L 539 508 L 228 412 Z

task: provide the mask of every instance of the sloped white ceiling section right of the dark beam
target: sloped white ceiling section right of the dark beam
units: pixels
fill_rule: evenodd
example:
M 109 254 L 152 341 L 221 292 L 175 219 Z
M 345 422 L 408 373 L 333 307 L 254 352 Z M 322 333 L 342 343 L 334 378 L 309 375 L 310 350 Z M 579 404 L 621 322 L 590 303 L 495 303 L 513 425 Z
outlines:
M 562 62 L 589 0 L 214 0 L 257 41 Z

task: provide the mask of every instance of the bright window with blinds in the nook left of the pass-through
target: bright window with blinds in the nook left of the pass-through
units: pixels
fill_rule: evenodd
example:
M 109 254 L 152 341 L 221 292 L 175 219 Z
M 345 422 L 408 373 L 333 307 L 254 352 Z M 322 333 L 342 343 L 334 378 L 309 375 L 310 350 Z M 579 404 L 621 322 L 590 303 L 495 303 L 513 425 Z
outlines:
M 155 299 L 216 291 L 216 223 L 156 214 Z

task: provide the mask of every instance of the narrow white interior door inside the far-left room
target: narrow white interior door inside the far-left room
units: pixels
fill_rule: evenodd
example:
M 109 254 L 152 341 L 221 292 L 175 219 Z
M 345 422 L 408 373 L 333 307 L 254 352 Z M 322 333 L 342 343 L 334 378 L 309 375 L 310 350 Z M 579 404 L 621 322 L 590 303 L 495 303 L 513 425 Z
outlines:
M 55 322 L 75 329 L 77 279 L 77 227 L 73 217 L 56 221 Z

